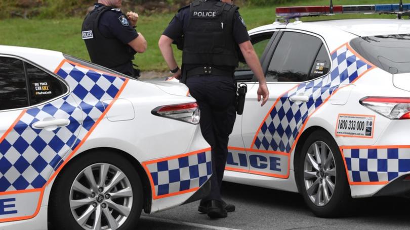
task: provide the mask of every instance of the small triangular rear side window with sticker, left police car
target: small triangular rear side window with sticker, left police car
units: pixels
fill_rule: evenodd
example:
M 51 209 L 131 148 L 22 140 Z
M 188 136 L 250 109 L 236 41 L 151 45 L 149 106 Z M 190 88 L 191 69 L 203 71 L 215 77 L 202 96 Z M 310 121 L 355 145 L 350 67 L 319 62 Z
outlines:
M 67 87 L 56 77 L 26 63 L 27 78 L 30 87 L 30 104 L 40 104 L 61 96 Z

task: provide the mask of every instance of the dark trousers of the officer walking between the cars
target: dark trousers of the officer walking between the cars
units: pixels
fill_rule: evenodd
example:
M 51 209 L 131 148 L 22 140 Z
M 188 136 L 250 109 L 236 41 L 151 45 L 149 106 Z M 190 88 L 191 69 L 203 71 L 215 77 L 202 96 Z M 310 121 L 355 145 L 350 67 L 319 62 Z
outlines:
M 236 84 L 231 76 L 188 76 L 186 85 L 198 103 L 202 136 L 212 147 L 211 192 L 201 202 L 219 200 L 228 155 L 229 135 L 236 119 Z

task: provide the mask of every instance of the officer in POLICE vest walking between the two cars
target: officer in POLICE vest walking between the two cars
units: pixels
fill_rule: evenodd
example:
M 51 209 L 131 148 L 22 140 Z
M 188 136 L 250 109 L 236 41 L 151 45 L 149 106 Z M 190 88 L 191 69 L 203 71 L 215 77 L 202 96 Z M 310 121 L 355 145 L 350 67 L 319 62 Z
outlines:
M 236 118 L 233 72 L 239 49 L 259 81 L 258 101 L 263 98 L 263 105 L 269 97 L 258 56 L 237 10 L 232 0 L 195 0 L 178 11 L 158 42 L 173 77 L 188 86 L 201 110 L 202 135 L 212 147 L 213 175 L 211 192 L 201 200 L 198 211 L 211 218 L 226 217 L 235 210 L 222 200 L 220 188 Z M 182 71 L 172 43 L 183 49 Z

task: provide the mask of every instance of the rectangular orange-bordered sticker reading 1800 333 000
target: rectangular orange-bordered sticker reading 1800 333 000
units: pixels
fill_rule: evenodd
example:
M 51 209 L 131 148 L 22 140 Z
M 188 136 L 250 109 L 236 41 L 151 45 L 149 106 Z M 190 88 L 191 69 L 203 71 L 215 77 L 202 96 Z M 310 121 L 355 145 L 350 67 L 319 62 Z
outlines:
M 339 114 L 336 136 L 373 138 L 376 116 Z

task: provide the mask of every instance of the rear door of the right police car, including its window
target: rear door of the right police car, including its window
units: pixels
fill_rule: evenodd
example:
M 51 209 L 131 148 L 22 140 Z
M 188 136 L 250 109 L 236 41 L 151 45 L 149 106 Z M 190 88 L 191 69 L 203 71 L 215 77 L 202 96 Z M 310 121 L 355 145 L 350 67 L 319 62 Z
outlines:
M 281 30 L 262 62 L 269 101 L 261 107 L 255 82 L 243 112 L 242 136 L 249 172 L 289 178 L 290 153 L 308 110 L 315 103 L 312 94 L 320 91 L 313 79 L 329 71 L 329 53 L 322 39 L 314 34 Z

